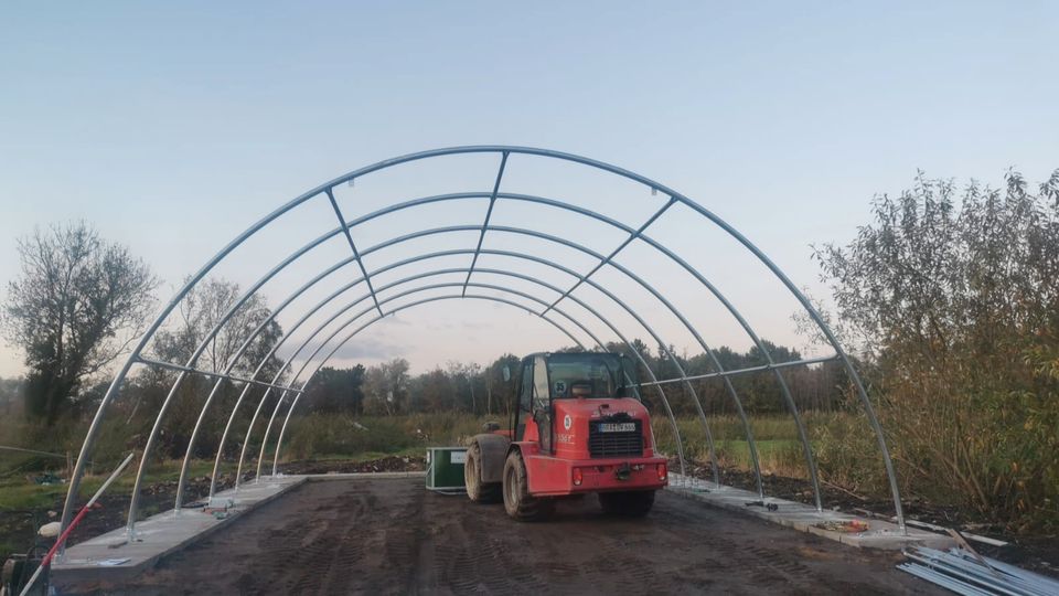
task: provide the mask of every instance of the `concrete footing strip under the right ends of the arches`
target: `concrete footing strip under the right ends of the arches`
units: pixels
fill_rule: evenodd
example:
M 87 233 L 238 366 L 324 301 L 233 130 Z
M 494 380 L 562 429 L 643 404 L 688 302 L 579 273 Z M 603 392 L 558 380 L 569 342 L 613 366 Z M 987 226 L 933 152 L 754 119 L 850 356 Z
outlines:
M 678 473 L 670 473 L 670 485 L 666 487 L 666 490 L 689 499 L 703 501 L 714 507 L 736 511 L 745 515 L 761 518 L 772 523 L 785 525 L 801 532 L 816 534 L 859 549 L 897 551 L 909 545 L 921 545 L 945 550 L 955 545 L 952 538 L 948 535 L 912 528 L 909 528 L 907 533 L 901 533 L 896 523 L 888 521 L 865 519 L 827 509 L 816 511 L 816 508 L 812 505 L 784 499 L 766 497 L 762 500 L 758 497 L 757 492 L 724 485 L 718 486 L 713 482 L 681 476 Z M 762 501 L 762 504 L 747 504 L 756 501 Z M 764 507 L 769 504 L 775 505 L 775 509 L 770 510 L 768 507 Z M 863 532 L 835 530 L 847 522 L 865 523 L 868 530 Z

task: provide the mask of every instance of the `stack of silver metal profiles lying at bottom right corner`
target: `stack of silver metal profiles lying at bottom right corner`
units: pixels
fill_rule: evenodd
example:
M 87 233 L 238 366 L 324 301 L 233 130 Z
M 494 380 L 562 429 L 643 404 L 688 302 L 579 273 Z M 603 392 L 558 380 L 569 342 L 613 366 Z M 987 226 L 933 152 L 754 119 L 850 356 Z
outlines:
M 897 568 L 966 595 L 1005 594 L 1009 596 L 1055 596 L 1059 581 L 1045 577 L 1014 565 L 982 557 L 960 550 L 935 551 L 914 546 L 905 551 L 909 558 Z

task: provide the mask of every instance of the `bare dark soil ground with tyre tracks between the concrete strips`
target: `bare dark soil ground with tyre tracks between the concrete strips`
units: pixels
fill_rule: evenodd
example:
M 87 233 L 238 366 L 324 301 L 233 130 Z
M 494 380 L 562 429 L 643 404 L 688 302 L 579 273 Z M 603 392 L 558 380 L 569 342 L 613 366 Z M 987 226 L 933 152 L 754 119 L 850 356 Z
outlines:
M 313 481 L 120 585 L 63 594 L 940 594 L 858 551 L 662 493 L 645 519 L 592 497 L 545 523 L 424 489 Z

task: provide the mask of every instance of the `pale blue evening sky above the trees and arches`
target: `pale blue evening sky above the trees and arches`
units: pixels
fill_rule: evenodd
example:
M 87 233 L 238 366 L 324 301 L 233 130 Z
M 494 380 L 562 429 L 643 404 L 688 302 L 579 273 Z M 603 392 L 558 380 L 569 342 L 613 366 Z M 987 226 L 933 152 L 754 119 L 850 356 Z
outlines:
M 0 284 L 19 274 L 18 237 L 86 220 L 151 265 L 164 301 L 232 237 L 327 180 L 418 150 L 503 143 L 588 156 L 676 189 L 826 301 L 812 246 L 854 237 L 869 221 L 874 195 L 909 188 L 919 170 L 997 184 L 1008 168 L 1042 180 L 1059 167 L 1057 32 L 1055 2 L 6 2 Z M 416 196 L 489 191 L 498 166 L 496 156 L 477 156 L 396 169 L 342 187 L 339 201 L 352 219 Z M 665 199 L 520 156 L 501 190 L 590 205 L 633 227 Z M 310 203 L 215 274 L 248 287 L 332 230 L 330 205 Z M 409 210 L 354 236 L 363 248 L 438 222 L 479 224 L 485 206 L 479 200 Z M 495 217 L 603 254 L 623 238 L 576 216 L 504 201 Z M 671 210 L 649 235 L 689 255 L 760 336 L 802 345 L 791 322 L 796 305 L 716 228 Z M 374 270 L 414 254 L 473 248 L 475 235 L 456 236 L 379 251 L 365 264 Z M 263 287 L 270 305 L 347 256 L 344 238 L 332 241 Z M 581 273 L 592 268 L 584 255 L 539 244 L 490 233 L 483 247 L 518 246 Z M 749 345 L 700 286 L 644 246 L 617 260 L 650 274 L 712 345 Z M 514 266 L 484 256 L 479 265 Z M 563 288 L 571 280 L 531 276 Z M 483 284 L 503 279 L 475 274 Z M 598 279 L 642 309 L 667 343 L 698 351 L 634 284 L 609 267 Z M 278 319 L 291 328 L 329 291 L 308 292 Z M 595 291 L 575 296 L 603 305 L 630 339 L 653 343 Z M 569 299 L 561 306 L 591 318 L 574 312 L 580 307 Z M 616 339 L 598 322 L 591 329 Z M 405 356 L 422 371 L 569 343 L 517 309 L 446 300 L 372 326 L 334 362 Z M 19 351 L 0 350 L 0 376 L 21 374 Z

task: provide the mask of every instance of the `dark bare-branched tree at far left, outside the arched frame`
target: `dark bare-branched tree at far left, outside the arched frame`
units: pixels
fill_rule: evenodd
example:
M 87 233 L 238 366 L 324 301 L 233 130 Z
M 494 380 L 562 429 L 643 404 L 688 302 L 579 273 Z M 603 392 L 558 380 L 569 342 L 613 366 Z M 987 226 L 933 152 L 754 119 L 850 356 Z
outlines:
M 4 337 L 25 352 L 28 412 L 53 424 L 82 382 L 139 336 L 158 279 L 85 222 L 19 240 L 19 277 L 2 307 Z

